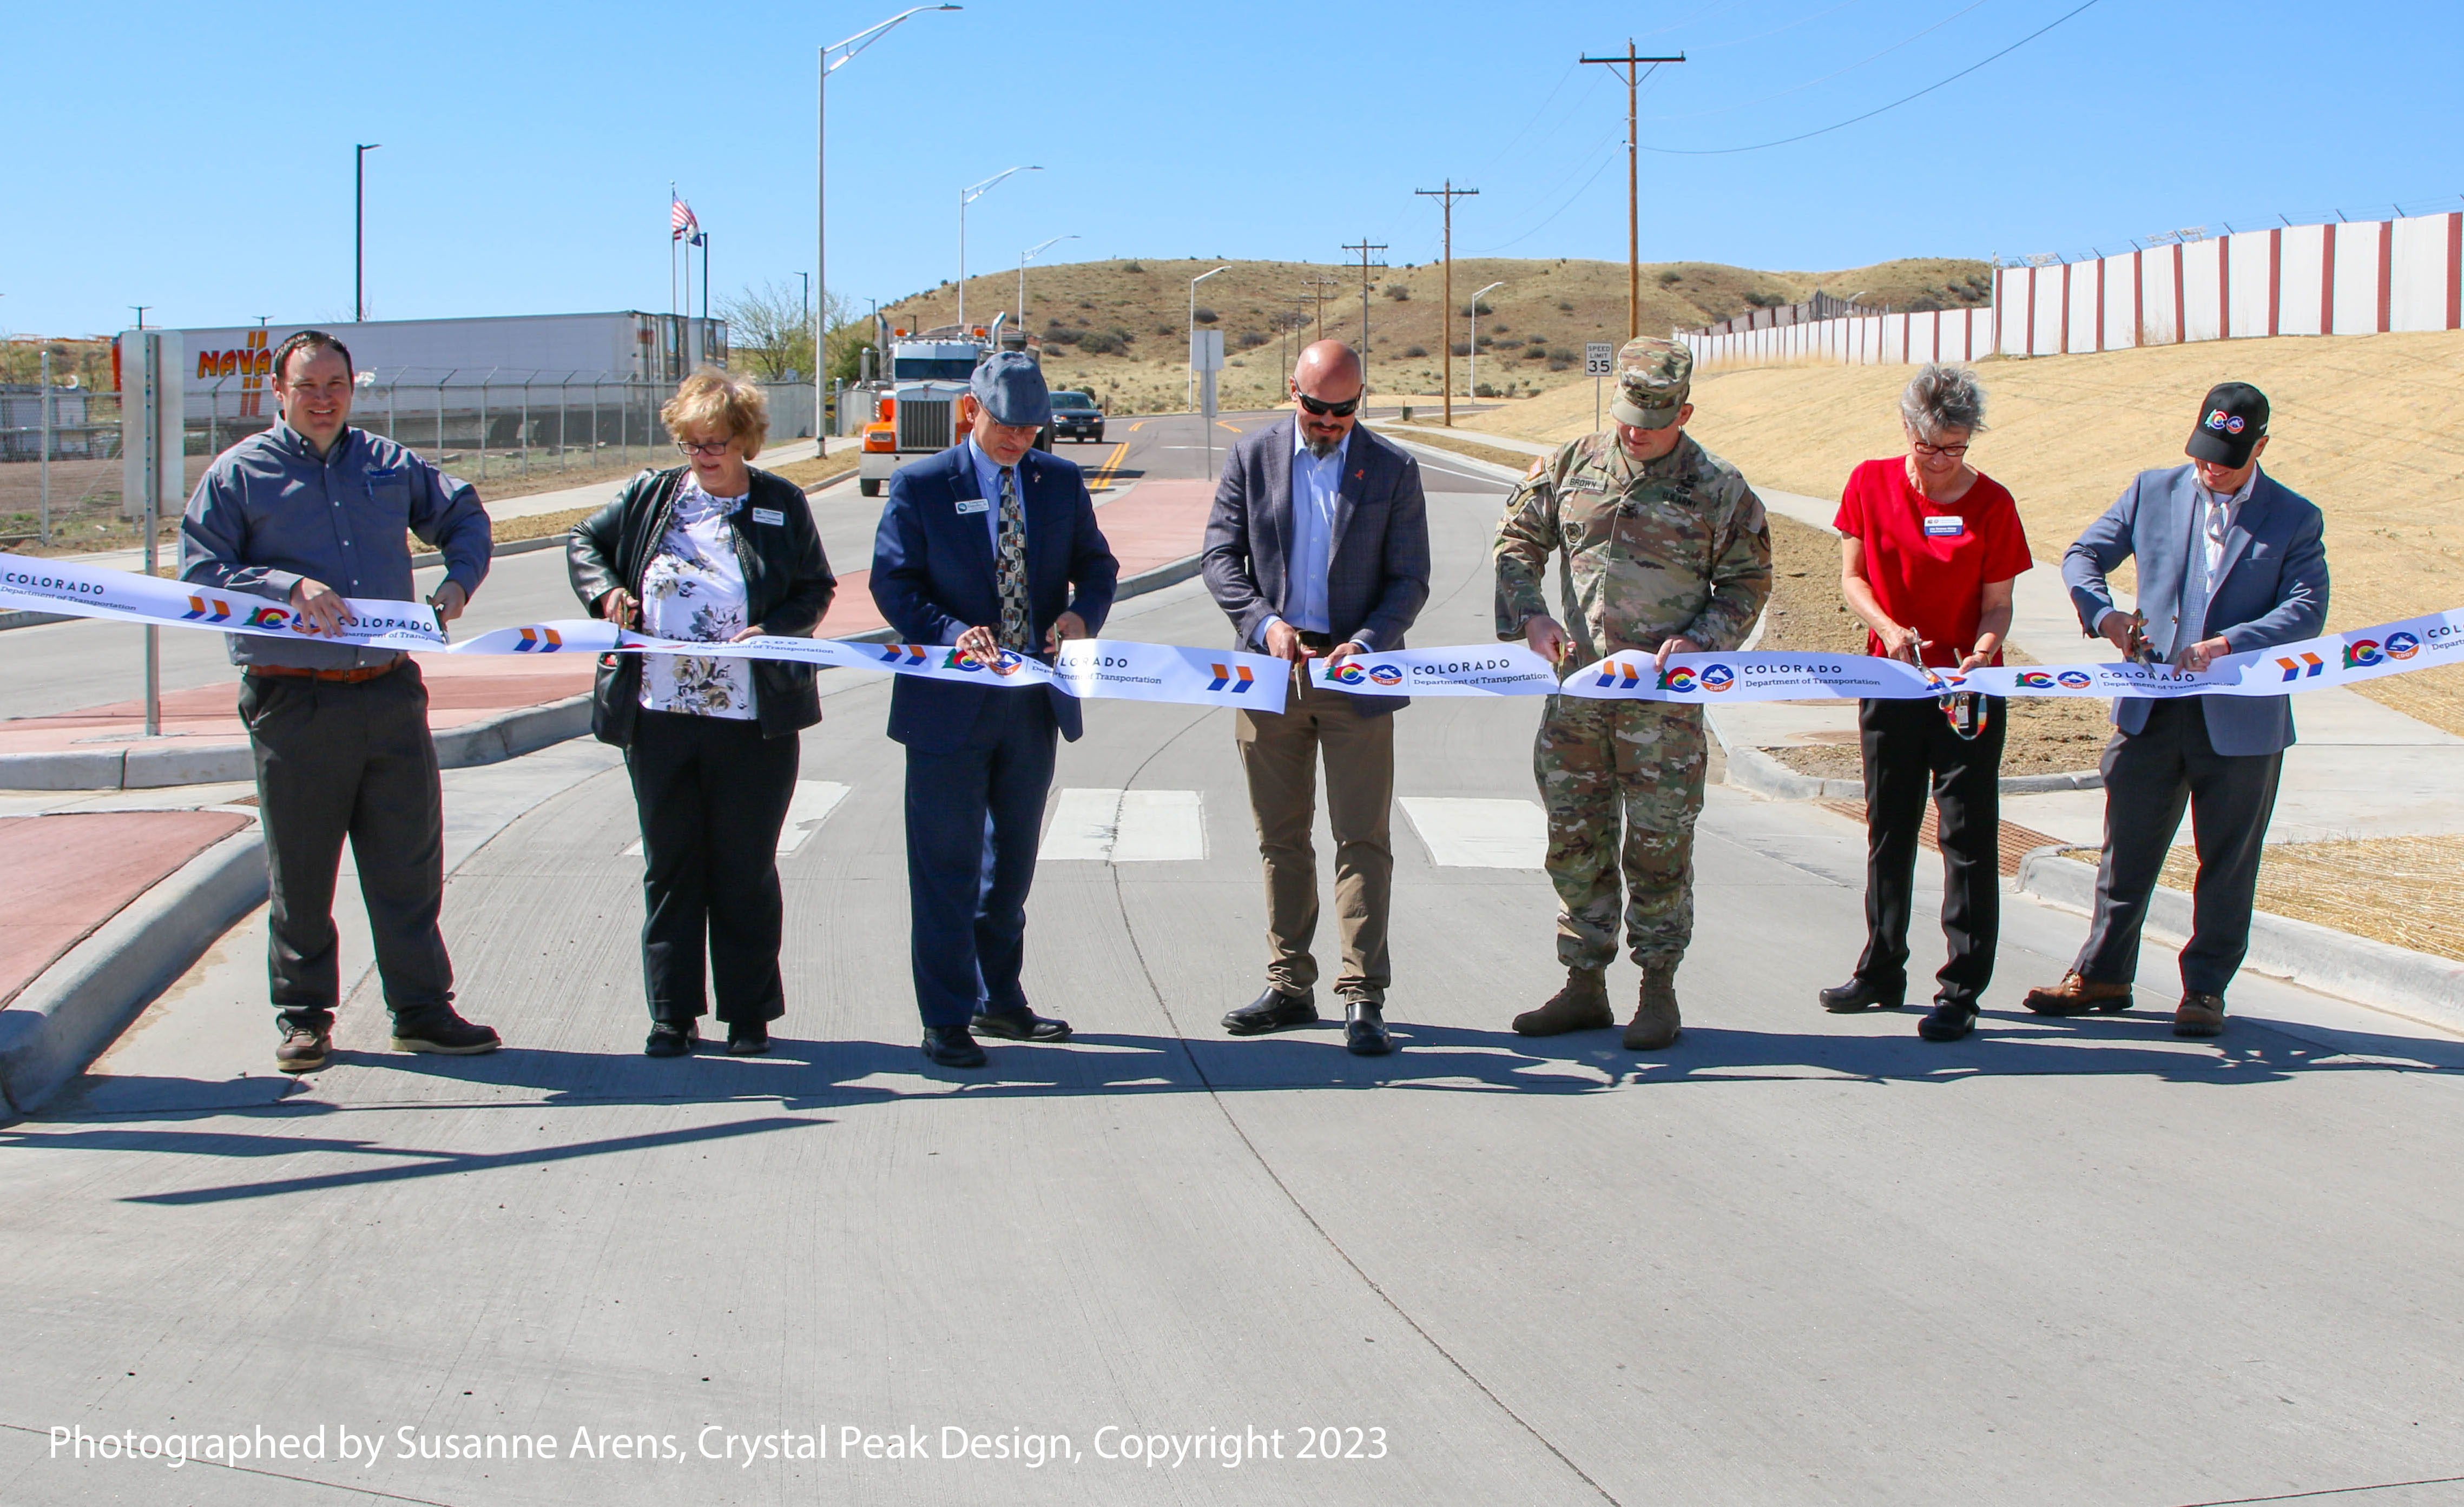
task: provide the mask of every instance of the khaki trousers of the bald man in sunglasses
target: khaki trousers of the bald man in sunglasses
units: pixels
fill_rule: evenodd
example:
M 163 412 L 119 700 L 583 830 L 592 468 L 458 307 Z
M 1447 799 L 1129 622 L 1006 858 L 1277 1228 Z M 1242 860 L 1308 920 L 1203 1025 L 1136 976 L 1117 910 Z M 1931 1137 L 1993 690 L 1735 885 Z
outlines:
M 1385 1005 L 1387 901 L 1395 894 L 1395 717 L 1363 717 L 1343 692 L 1296 685 L 1279 714 L 1239 714 L 1249 815 L 1266 859 L 1266 983 L 1303 995 L 1318 983 L 1308 943 L 1318 933 L 1318 754 L 1326 818 L 1335 832 L 1335 928 L 1343 973 L 1335 995 Z

